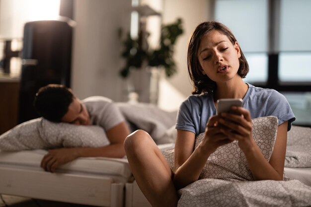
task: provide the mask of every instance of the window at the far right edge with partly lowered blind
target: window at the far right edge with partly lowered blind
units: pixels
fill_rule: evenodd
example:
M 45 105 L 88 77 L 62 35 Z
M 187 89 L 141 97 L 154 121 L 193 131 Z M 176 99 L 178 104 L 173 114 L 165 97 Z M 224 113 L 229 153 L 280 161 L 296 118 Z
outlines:
M 311 82 L 310 10 L 310 0 L 280 1 L 278 75 L 281 83 Z

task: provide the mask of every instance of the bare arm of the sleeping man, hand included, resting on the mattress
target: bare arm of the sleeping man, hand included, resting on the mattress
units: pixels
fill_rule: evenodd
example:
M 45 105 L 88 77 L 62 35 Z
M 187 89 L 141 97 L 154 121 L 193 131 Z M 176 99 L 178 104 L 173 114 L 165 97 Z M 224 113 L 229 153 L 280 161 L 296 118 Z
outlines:
M 124 139 L 130 134 L 125 122 L 112 127 L 106 132 L 110 145 L 102 147 L 75 147 L 51 149 L 43 157 L 41 167 L 45 171 L 55 172 L 55 169 L 78 157 L 115 157 L 121 158 L 125 155 L 123 146 Z

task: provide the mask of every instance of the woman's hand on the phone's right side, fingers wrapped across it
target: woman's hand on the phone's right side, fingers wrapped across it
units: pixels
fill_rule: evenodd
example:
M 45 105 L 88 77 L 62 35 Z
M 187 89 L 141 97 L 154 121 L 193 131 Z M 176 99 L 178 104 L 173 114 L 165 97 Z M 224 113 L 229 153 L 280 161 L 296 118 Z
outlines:
M 220 114 L 221 132 L 229 138 L 236 139 L 239 147 L 244 151 L 254 143 L 250 113 L 243 107 L 233 106 L 231 109 L 233 113 Z

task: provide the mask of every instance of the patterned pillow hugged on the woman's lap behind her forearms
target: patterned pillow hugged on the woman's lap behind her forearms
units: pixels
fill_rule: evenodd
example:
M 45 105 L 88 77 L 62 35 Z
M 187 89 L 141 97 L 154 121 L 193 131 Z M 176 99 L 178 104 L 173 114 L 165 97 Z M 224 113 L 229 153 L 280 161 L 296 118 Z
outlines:
M 255 139 L 264 157 L 269 161 L 276 139 L 278 118 L 268 116 L 252 119 L 252 126 L 252 137 Z M 201 143 L 204 134 L 202 133 L 196 137 L 195 147 Z M 173 169 L 173 149 L 165 150 L 163 154 L 169 166 Z M 210 155 L 200 175 L 200 179 L 203 178 L 254 180 L 244 152 L 239 148 L 237 141 L 218 147 Z

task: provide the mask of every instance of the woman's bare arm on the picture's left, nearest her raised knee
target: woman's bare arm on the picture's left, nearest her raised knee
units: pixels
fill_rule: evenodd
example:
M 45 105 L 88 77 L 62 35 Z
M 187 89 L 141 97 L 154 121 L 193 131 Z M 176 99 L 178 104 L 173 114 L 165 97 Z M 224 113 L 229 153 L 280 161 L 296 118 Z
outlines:
M 219 116 L 210 118 L 205 131 L 205 137 L 195 149 L 194 133 L 177 130 L 174 153 L 176 172 L 173 179 L 177 190 L 198 180 L 210 154 L 217 147 L 232 141 L 220 133 L 220 128 L 216 126 L 218 119 Z

